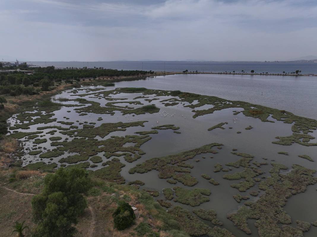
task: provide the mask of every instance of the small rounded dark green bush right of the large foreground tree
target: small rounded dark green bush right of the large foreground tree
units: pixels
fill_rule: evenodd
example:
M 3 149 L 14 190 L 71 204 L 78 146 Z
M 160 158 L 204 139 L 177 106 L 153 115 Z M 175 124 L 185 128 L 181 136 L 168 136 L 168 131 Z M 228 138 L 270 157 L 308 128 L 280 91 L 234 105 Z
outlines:
M 129 203 L 120 201 L 117 209 L 113 212 L 114 228 L 124 230 L 132 226 L 135 214 Z

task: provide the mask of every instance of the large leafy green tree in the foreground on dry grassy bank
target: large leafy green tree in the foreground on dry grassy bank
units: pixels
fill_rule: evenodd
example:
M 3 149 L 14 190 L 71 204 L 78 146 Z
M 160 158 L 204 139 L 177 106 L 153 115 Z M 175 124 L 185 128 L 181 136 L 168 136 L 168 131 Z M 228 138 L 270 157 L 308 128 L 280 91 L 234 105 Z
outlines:
M 84 169 L 60 168 L 44 178 L 42 193 L 32 198 L 33 219 L 38 224 L 35 237 L 71 237 L 78 217 L 87 208 L 82 195 L 90 188 Z

